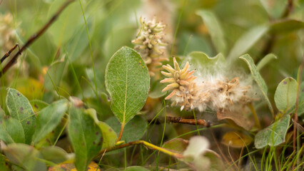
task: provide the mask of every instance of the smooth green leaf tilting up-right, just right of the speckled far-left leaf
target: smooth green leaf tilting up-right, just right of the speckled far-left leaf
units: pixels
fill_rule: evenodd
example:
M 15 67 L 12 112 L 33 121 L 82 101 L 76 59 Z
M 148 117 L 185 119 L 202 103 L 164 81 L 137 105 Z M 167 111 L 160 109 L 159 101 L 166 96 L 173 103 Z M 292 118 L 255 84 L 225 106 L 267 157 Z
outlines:
M 33 135 L 33 142 L 37 143 L 59 125 L 64 113 L 68 110 L 68 101 L 59 100 L 41 110 L 36 120 L 36 132 Z

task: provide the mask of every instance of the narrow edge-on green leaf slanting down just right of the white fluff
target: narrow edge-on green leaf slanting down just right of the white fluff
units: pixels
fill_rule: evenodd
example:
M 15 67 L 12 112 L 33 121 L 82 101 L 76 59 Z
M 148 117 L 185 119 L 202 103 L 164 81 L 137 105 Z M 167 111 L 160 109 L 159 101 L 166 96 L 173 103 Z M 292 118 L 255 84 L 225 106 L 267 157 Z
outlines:
M 268 99 L 268 96 L 267 96 L 268 88 L 266 86 L 264 79 L 262 78 L 262 76 L 260 76 L 260 73 L 258 72 L 258 68 L 256 68 L 256 66 L 253 62 L 253 58 L 251 58 L 251 56 L 249 56 L 248 54 L 240 56 L 239 58 L 243 59 L 243 61 L 245 61 L 247 63 L 248 68 L 250 69 L 250 72 L 251 72 L 253 78 L 255 79 L 255 82 L 258 83 L 258 87 L 262 91 L 263 96 L 268 103 L 268 107 L 269 107 L 271 113 L 273 113 L 273 106 L 271 105 L 270 100 Z

